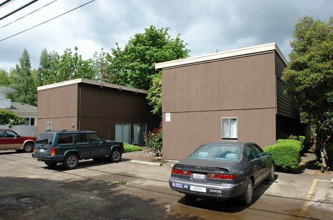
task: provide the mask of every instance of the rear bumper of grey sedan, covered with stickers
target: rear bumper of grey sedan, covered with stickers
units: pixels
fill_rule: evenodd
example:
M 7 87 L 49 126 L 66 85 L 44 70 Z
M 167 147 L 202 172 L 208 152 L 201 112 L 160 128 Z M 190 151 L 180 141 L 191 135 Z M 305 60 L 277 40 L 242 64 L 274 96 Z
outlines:
M 194 183 L 192 181 L 179 180 L 178 178 L 173 177 L 169 179 L 169 186 L 172 190 L 178 192 L 214 199 L 230 199 L 237 197 L 242 195 L 246 189 L 246 187 L 244 187 L 242 184 L 201 184 L 197 182 Z

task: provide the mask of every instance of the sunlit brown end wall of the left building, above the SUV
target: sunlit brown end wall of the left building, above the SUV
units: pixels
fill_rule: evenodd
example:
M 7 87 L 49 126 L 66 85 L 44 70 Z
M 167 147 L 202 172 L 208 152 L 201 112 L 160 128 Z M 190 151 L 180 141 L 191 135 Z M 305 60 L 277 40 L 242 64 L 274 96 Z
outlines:
M 78 129 L 77 90 L 77 84 L 72 84 L 38 91 L 38 134 L 46 130 L 47 122 L 52 122 L 53 130 Z

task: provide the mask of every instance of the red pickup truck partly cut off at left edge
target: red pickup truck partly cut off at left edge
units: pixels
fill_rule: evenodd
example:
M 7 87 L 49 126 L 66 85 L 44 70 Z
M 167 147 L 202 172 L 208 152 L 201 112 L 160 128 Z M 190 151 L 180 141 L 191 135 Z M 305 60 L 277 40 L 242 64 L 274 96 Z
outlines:
M 18 135 L 11 129 L 0 129 L 0 150 L 32 152 L 36 138 Z

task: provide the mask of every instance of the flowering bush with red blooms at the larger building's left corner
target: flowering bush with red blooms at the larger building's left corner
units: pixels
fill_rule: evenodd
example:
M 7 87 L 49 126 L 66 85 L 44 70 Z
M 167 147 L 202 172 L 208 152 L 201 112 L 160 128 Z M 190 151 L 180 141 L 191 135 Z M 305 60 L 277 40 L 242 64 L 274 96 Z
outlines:
M 162 156 L 162 122 L 158 128 L 144 135 L 144 141 L 148 147 L 152 148 L 156 157 Z

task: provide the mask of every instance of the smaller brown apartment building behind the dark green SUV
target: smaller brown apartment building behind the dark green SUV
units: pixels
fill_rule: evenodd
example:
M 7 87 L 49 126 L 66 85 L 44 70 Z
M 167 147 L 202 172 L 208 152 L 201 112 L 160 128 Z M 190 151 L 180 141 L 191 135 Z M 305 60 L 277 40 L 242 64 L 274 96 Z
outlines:
M 144 145 L 143 133 L 158 127 L 148 91 L 74 79 L 39 86 L 38 134 L 44 130 L 97 131 L 107 140 Z

